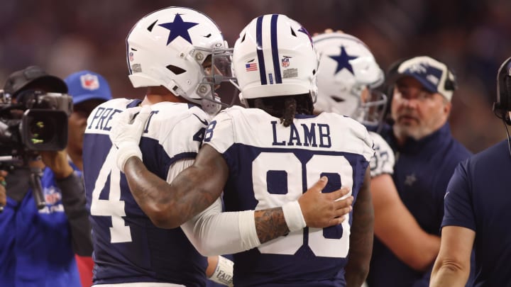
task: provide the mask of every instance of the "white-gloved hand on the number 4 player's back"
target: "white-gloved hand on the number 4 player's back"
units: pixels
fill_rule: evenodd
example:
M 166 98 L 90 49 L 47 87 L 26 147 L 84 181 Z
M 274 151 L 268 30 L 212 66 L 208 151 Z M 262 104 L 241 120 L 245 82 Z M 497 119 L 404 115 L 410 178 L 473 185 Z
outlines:
M 150 106 L 128 108 L 112 120 L 109 133 L 112 145 L 117 147 L 117 167 L 124 172 L 124 164 L 130 157 L 142 159 L 140 142 L 145 122 L 150 116 Z

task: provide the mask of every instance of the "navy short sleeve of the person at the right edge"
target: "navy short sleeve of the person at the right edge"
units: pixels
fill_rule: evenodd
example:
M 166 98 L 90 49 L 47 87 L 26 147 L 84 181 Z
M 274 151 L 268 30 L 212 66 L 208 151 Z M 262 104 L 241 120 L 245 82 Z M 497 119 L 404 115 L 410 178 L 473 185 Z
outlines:
M 444 219 L 441 226 L 455 225 L 476 230 L 476 221 L 472 209 L 470 175 L 467 162 L 458 164 L 447 186 L 444 197 Z

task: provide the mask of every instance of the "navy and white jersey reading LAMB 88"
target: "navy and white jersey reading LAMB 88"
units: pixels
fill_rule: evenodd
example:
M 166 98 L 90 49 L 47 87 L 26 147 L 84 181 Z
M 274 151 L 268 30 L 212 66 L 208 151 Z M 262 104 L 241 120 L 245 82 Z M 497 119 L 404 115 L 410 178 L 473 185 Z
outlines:
M 320 176 L 323 192 L 350 187 L 356 198 L 373 156 L 368 131 L 334 113 L 297 116 L 290 127 L 257 108 L 228 108 L 211 121 L 204 144 L 229 166 L 226 211 L 295 201 Z M 344 286 L 351 214 L 342 225 L 305 228 L 234 254 L 234 286 Z

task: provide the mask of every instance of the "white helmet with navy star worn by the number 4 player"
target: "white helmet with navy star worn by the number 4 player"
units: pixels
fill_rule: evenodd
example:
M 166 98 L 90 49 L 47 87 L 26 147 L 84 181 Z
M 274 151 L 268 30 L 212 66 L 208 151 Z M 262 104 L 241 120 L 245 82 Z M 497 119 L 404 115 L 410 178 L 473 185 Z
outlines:
M 133 87 L 165 86 L 176 96 L 202 105 L 205 111 L 211 106 L 216 109 L 208 113 L 221 108 L 214 86 L 233 79 L 231 50 L 208 16 L 182 7 L 154 11 L 131 28 L 126 48 Z M 207 59 L 214 68 L 204 73 Z M 214 73 L 218 71 L 221 74 Z M 211 101 L 218 104 L 211 105 Z

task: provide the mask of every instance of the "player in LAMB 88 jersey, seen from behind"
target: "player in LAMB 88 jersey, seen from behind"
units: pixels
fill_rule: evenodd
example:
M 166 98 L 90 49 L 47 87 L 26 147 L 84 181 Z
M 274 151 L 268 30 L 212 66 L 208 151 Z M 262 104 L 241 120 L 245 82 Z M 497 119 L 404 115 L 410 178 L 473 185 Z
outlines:
M 282 206 L 290 224 L 275 232 L 287 236 L 234 254 L 235 286 L 361 286 L 366 278 L 373 242 L 373 142 L 356 120 L 336 113 L 314 116 L 317 67 L 314 44 L 300 23 L 279 14 L 255 18 L 233 49 L 233 72 L 248 108 L 227 108 L 211 120 L 192 167 L 172 184 L 161 184 L 140 157 L 117 157 L 133 195 L 163 224 L 193 216 L 222 191 L 228 211 Z M 138 128 L 129 125 L 124 119 L 115 128 L 124 133 Z M 111 138 L 127 145 L 125 138 Z M 323 192 L 350 190 L 353 210 L 341 224 L 303 228 L 294 219 L 305 209 L 300 200 L 309 192 L 302 193 L 320 176 L 328 179 Z M 158 212 L 164 207 L 167 217 Z

